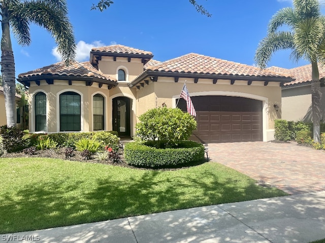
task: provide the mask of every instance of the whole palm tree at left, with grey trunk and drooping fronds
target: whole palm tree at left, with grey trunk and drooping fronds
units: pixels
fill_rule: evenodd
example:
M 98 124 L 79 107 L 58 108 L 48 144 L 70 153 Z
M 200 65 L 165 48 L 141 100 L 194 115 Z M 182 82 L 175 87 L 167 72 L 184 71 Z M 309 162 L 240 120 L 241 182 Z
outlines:
M 16 126 L 15 61 L 10 30 L 19 45 L 31 42 L 29 25 L 37 24 L 48 30 L 58 45 L 62 58 L 69 64 L 75 57 L 75 37 L 67 17 L 65 0 L 0 0 L 1 72 L 6 103 L 7 125 Z

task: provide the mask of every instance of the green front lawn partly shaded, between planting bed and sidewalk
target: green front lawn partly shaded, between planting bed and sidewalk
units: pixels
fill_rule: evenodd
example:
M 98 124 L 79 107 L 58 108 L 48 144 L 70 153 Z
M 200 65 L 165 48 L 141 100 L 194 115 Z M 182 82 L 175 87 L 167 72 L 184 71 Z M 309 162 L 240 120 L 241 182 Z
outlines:
M 0 234 L 287 195 L 213 162 L 157 171 L 0 158 L 0 171 Z

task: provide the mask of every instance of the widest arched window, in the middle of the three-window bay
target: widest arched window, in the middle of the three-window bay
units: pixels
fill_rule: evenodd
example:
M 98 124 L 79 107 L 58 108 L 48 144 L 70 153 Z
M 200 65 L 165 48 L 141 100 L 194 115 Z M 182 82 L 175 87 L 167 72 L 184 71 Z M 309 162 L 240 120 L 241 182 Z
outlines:
M 75 92 L 60 94 L 60 131 L 81 130 L 81 97 Z

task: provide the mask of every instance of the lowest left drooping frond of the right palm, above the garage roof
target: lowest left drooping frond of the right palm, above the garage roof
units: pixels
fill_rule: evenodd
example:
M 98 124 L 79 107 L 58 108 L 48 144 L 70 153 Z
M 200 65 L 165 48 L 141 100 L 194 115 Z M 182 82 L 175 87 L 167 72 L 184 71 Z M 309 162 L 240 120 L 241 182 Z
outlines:
M 256 49 L 254 61 L 257 67 L 265 69 L 272 55 L 283 49 L 295 49 L 294 35 L 288 31 L 268 34 L 259 42 Z

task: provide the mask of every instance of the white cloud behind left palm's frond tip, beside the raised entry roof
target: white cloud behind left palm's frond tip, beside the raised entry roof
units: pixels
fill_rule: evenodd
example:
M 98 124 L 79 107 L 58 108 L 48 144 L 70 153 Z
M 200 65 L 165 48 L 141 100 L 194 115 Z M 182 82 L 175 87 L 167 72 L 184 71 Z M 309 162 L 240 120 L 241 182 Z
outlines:
M 76 55 L 76 60 L 81 62 L 81 61 L 86 61 L 89 59 L 89 53 L 91 51 L 91 48 L 94 47 L 104 47 L 105 44 L 102 43 L 101 41 L 94 41 L 92 43 L 85 43 L 84 41 L 79 41 L 77 43 L 77 55 Z M 57 47 L 52 49 L 52 55 L 56 58 L 57 61 L 61 61 L 62 58 L 60 54 L 57 51 Z

